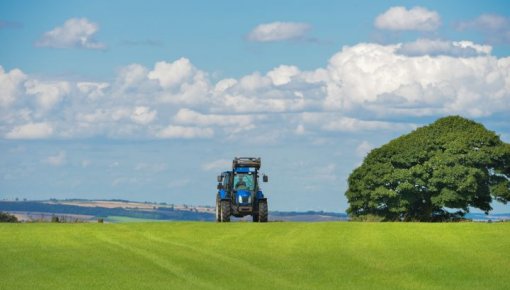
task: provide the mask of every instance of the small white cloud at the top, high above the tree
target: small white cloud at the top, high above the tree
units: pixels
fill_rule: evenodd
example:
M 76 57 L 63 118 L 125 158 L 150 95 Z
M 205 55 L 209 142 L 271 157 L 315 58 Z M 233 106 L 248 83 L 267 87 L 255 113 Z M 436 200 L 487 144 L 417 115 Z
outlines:
M 377 16 L 374 25 L 385 30 L 432 31 L 439 28 L 441 19 L 436 11 L 423 7 L 406 9 L 402 6 L 391 7 Z

